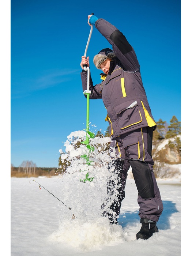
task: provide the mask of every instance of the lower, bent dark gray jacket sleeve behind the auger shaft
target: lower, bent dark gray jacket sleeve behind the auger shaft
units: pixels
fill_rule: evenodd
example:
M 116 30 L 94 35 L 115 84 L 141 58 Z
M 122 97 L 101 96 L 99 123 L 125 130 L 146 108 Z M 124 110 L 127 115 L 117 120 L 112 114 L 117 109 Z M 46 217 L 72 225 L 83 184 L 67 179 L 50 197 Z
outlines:
M 83 91 L 87 90 L 87 71 L 81 72 L 82 88 Z M 89 90 L 91 91 L 90 99 L 102 99 L 102 83 L 96 84 L 93 86 L 93 81 L 89 79 Z M 84 95 L 87 98 L 87 95 Z

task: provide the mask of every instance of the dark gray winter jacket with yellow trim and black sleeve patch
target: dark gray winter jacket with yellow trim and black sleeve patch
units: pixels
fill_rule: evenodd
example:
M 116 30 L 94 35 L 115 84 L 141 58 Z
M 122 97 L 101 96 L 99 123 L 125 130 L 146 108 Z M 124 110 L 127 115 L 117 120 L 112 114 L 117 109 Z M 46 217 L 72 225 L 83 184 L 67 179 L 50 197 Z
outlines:
M 103 74 L 101 83 L 93 86 L 90 76 L 90 99 L 103 99 L 112 139 L 142 127 L 155 129 L 135 51 L 125 36 L 106 20 L 98 19 L 95 28 L 109 41 L 117 56 L 110 62 L 109 73 Z M 87 71 L 82 71 L 81 78 L 83 91 L 87 90 Z

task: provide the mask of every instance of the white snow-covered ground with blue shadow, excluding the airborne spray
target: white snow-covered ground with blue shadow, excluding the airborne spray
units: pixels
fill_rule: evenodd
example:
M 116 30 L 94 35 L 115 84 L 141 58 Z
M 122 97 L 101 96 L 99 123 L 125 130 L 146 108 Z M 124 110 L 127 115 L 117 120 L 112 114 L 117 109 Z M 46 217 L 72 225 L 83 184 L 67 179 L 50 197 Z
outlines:
M 109 225 L 105 218 L 88 217 L 87 222 L 86 217 L 83 217 L 83 221 L 78 217 L 73 219 L 72 214 L 76 214 L 79 208 L 71 211 L 68 207 L 73 205 L 72 202 L 66 207 L 53 196 L 59 199 L 63 197 L 59 189 L 62 178 L 34 179 L 53 195 L 42 187 L 39 189 L 38 184 L 31 179 L 34 178 L 11 178 L 12 256 L 181 255 L 179 180 L 158 181 L 164 204 L 157 225 L 159 232 L 148 240 L 136 240 L 135 235 L 141 224 L 134 180 L 127 180 L 119 225 Z M 85 189 L 89 193 L 90 185 L 79 183 L 84 188 L 87 186 Z

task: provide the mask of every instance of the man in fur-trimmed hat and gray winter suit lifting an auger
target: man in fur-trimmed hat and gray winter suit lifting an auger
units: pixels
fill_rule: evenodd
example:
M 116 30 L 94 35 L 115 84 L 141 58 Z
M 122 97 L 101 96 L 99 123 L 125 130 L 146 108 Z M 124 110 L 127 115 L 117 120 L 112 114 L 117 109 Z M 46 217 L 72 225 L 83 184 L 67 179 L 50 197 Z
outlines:
M 116 140 L 125 159 L 126 165 L 124 164 L 123 169 L 129 168 L 127 162 L 132 167 L 142 223 L 136 238 L 148 239 L 158 232 L 156 223 L 163 211 L 151 155 L 153 131 L 157 125 L 151 114 L 140 65 L 132 46 L 125 36 L 106 20 L 89 15 L 88 23 L 90 26 L 95 25 L 113 49 L 102 49 L 94 57 L 95 66 L 104 74 L 101 74 L 102 82 L 95 86 L 90 77 L 90 99 L 103 99 L 108 112 L 111 138 Z M 86 59 L 82 56 L 80 63 L 83 69 L 83 91 L 87 88 L 87 71 L 84 71 L 84 64 L 90 66 L 89 57 Z

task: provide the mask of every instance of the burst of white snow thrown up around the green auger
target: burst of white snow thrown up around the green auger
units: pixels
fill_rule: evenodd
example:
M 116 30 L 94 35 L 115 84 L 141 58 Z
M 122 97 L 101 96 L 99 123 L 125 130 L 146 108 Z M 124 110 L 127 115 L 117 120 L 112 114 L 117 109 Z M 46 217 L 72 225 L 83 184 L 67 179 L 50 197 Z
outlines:
M 67 163 L 68 167 L 58 179 L 57 187 L 62 201 L 73 209 L 75 219 L 71 218 L 66 207 L 58 204 L 61 207 L 59 230 L 50 239 L 65 242 L 81 251 L 91 251 L 99 249 L 101 245 L 124 242 L 125 234 L 121 226 L 111 225 L 108 217 L 102 217 L 102 212 L 118 195 L 118 178 L 112 165 L 116 153 L 114 148 L 109 147 L 111 139 L 97 136 L 90 138 L 89 144 L 95 150 L 87 152 L 87 147 L 81 144 L 85 136 L 85 131 L 72 132 L 64 143 L 65 150 L 60 149 L 61 161 Z M 90 165 L 81 157 L 88 153 Z M 94 177 L 93 180 L 81 182 L 87 172 L 90 177 Z M 109 179 L 115 184 L 110 200 L 107 193 Z

